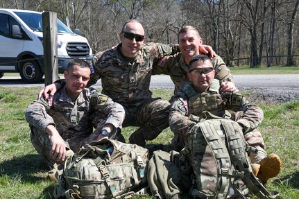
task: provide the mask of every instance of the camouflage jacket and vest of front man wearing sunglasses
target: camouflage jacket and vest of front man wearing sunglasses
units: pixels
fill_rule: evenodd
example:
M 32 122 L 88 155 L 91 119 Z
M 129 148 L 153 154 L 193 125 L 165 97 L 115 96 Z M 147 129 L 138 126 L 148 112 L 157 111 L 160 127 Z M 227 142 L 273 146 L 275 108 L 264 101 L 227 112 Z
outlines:
M 219 80 L 214 79 L 207 92 L 203 93 L 196 92 L 191 83 L 182 85 L 182 90 L 173 97 L 171 103 L 169 126 L 173 132 L 187 135 L 188 129 L 196 123 L 194 118 L 203 118 L 205 111 L 231 119 L 234 119 L 234 112 L 243 112 L 237 123 L 244 133 L 257 128 L 264 119 L 263 111 L 254 103 L 246 101 L 241 94 L 219 94 Z

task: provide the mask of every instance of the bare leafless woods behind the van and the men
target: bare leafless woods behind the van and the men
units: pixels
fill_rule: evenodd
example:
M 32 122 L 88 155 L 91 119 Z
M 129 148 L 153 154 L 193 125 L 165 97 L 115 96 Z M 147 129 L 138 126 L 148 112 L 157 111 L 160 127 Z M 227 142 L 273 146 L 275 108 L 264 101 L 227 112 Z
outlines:
M 1 0 L 0 8 L 57 12 L 94 53 L 117 45 L 124 21 L 142 22 L 146 42 L 177 44 L 192 25 L 229 67 L 299 63 L 299 0 Z

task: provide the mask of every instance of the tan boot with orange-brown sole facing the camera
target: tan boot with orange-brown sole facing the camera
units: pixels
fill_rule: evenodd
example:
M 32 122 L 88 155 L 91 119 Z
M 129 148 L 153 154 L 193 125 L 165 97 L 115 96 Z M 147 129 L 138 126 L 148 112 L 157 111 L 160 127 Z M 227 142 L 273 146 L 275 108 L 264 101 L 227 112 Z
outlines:
M 259 162 L 261 167 L 259 168 L 259 173 L 257 173 L 257 178 L 266 184 L 270 178 L 274 178 L 282 168 L 282 162 L 280 157 L 274 153 L 268 155 L 261 162 Z

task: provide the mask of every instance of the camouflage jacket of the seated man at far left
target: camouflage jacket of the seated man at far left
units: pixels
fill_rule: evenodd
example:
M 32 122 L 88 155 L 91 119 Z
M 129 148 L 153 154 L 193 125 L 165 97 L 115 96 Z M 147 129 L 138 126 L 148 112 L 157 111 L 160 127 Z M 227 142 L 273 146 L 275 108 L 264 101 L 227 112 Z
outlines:
M 51 106 L 40 98 L 28 105 L 26 110 L 26 120 L 30 126 L 45 132 L 46 126 L 52 124 L 65 140 L 91 135 L 92 124 L 99 121 L 99 117 L 104 119 L 105 123 L 121 128 L 124 110 L 111 98 L 99 94 L 92 88 L 85 89 L 73 102 L 67 95 L 65 87 L 62 87 L 53 96 Z M 94 128 L 96 125 L 94 123 Z

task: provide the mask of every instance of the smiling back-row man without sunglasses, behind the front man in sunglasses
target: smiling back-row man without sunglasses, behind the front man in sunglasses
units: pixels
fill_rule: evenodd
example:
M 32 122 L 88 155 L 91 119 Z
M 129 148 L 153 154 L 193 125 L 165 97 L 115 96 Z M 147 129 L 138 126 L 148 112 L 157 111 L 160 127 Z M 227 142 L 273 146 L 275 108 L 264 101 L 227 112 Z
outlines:
M 171 77 L 175 85 L 174 93 L 180 91 L 182 83 L 189 82 L 187 77 L 188 64 L 192 56 L 199 55 L 200 52 L 196 46 L 203 43 L 199 31 L 194 26 L 184 26 L 178 32 L 180 52 L 175 55 L 165 56 L 160 59 L 157 67 L 154 68 L 154 74 L 166 74 Z M 215 55 L 212 58 L 212 64 L 216 71 L 215 78 L 220 80 L 223 92 L 237 92 L 234 87 L 234 79 L 230 69 L 226 67 L 222 58 Z

